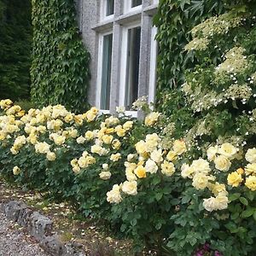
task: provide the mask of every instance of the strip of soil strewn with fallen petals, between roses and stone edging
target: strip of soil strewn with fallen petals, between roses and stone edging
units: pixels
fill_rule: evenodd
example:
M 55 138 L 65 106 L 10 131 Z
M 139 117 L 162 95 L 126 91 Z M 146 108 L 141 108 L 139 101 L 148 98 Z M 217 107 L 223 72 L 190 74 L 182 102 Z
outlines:
M 49 203 L 45 201 L 42 195 L 32 192 L 25 192 L 3 183 L 0 177 L 0 201 L 18 200 L 25 201 L 32 208 L 36 208 L 45 216 L 49 217 L 54 223 L 54 230 L 61 236 L 62 241 L 77 241 L 84 246 L 84 251 L 88 255 L 96 256 L 132 256 L 132 243 L 128 240 L 118 240 L 104 231 L 102 224 L 96 223 L 93 219 L 83 221 L 75 218 L 72 207 L 66 203 Z M 0 227 L 2 224 L 0 223 Z M 2 239 L 0 228 L 0 239 Z M 0 245 L 1 249 L 1 245 Z M 2 255 L 23 255 L 23 254 L 1 254 Z M 25 255 L 25 254 L 24 254 Z M 26 254 L 41 255 L 41 254 Z M 45 255 L 45 254 L 42 254 Z M 152 255 L 143 253 L 143 255 Z

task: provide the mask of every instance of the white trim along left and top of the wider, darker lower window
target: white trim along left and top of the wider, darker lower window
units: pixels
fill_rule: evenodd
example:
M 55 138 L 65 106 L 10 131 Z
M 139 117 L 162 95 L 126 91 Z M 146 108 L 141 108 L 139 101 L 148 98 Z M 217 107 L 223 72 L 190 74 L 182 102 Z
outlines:
M 121 68 L 120 68 L 120 86 L 119 86 L 119 106 L 125 106 L 125 86 L 127 75 L 127 47 L 128 47 L 128 31 L 131 28 L 142 26 L 140 21 L 130 23 L 128 26 L 123 27 L 122 31 L 122 46 L 121 46 Z M 131 114 L 137 117 L 137 111 L 125 111 L 126 114 Z

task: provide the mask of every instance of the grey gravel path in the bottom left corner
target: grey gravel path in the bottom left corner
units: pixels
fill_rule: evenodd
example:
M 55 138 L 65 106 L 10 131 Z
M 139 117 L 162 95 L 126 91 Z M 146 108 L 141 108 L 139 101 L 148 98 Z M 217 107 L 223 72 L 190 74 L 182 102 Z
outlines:
M 0 212 L 0 256 L 49 256 L 20 226 Z

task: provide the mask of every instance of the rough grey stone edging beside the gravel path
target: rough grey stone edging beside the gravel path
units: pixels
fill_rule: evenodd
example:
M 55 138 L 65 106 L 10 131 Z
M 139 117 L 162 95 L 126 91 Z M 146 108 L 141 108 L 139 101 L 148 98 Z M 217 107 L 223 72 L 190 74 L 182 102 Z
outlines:
M 75 242 L 63 243 L 53 232 L 52 221 L 29 208 L 22 201 L 0 202 L 0 212 L 26 228 L 27 232 L 53 256 L 85 256 L 82 245 Z

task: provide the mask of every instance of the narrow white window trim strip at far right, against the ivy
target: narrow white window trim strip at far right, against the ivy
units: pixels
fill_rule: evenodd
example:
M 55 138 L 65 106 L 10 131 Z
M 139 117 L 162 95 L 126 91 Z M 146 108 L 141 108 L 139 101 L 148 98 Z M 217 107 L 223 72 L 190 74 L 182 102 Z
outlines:
M 150 46 L 150 69 L 149 69 L 149 84 L 148 84 L 148 104 L 154 103 L 155 98 L 155 84 L 156 84 L 156 62 L 157 62 L 157 41 L 155 36 L 157 34 L 157 27 L 151 28 L 151 46 Z

